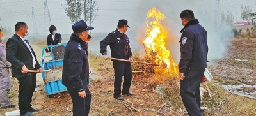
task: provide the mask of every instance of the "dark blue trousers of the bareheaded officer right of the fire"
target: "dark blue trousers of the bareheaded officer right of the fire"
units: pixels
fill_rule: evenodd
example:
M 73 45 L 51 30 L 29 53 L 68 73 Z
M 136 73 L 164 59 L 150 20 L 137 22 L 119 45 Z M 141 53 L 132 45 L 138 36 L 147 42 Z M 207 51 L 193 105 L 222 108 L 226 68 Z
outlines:
M 180 80 L 180 96 L 189 116 L 202 116 L 200 82 L 205 69 L 190 70 Z

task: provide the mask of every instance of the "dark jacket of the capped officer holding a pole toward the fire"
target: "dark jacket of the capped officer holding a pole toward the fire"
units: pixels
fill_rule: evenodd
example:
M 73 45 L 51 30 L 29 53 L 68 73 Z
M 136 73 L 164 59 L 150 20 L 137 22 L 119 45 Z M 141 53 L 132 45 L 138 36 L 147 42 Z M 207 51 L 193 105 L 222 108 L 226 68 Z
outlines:
M 110 46 L 111 57 L 118 59 L 128 59 L 132 57 L 130 41 L 126 34 L 120 33 L 118 29 L 109 33 L 108 36 L 100 41 L 100 53 L 107 54 L 107 46 Z

